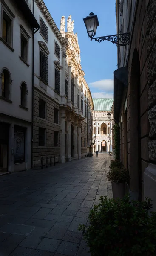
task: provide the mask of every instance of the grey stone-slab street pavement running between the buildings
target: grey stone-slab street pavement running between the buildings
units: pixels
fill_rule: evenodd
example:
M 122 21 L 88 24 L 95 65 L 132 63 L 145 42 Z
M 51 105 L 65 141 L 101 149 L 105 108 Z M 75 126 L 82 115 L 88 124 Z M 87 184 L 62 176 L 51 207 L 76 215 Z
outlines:
M 78 232 L 112 197 L 108 154 L 0 177 L 0 256 L 90 256 Z

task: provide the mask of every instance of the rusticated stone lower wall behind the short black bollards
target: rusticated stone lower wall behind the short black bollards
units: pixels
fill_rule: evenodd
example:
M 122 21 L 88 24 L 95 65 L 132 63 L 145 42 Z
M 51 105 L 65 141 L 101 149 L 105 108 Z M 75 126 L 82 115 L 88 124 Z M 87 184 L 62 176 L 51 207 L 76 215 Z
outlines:
M 39 99 L 46 102 L 45 119 L 39 117 Z M 41 165 L 41 157 L 43 157 L 43 164 L 48 157 L 56 162 L 60 160 L 60 115 L 58 125 L 54 123 L 54 108 L 59 109 L 59 105 L 52 99 L 48 98 L 42 92 L 34 89 L 34 127 L 33 127 L 33 167 Z M 46 129 L 45 146 L 39 146 L 39 127 Z M 54 147 L 54 131 L 59 132 L 58 147 Z

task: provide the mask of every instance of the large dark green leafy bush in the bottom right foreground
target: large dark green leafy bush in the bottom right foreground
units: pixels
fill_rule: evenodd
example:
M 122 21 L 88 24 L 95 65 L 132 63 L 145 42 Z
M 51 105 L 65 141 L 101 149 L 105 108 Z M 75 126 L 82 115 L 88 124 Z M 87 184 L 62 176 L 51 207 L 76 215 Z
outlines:
M 154 256 L 156 212 L 151 200 L 129 201 L 101 197 L 89 213 L 89 225 L 79 225 L 91 256 Z

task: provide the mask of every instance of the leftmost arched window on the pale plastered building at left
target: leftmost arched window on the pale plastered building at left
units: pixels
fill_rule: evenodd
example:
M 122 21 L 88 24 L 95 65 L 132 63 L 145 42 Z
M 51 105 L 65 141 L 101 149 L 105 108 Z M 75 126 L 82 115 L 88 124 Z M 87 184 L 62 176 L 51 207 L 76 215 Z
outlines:
M 11 91 L 11 77 L 9 71 L 4 69 L 2 72 L 2 97 L 9 99 Z

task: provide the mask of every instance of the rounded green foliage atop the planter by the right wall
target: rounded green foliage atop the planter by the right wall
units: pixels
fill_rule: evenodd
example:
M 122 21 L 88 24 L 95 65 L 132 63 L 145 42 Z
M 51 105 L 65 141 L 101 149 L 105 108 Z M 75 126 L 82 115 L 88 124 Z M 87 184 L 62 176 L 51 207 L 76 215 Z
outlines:
M 113 166 L 111 169 L 109 169 L 106 176 L 108 177 L 108 181 L 129 184 L 129 180 L 130 180 L 129 171 L 123 166 L 122 167 Z

